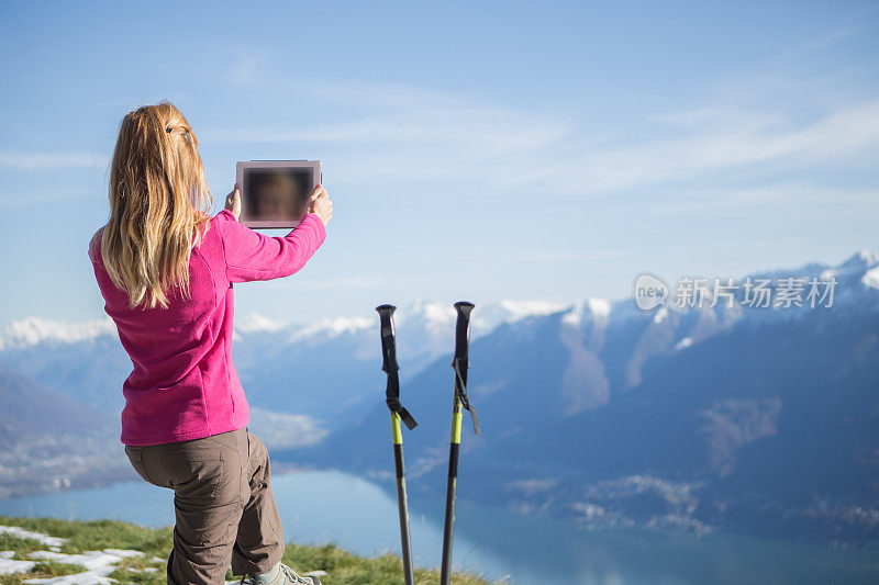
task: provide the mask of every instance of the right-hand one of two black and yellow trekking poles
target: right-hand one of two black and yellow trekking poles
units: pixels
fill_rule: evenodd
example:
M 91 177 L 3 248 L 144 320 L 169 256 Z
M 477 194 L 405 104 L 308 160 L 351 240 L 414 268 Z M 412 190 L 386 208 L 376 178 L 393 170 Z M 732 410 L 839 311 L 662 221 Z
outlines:
M 455 533 L 455 492 L 458 485 L 458 455 L 460 453 L 461 408 L 470 413 L 474 432 L 479 435 L 479 417 L 467 396 L 467 368 L 469 368 L 470 312 L 472 303 L 461 301 L 455 303 L 458 319 L 455 324 L 455 358 L 452 368 L 455 370 L 455 397 L 452 407 L 452 440 L 448 450 L 448 483 L 446 484 L 446 516 L 443 529 L 443 564 L 439 572 L 439 585 L 448 585 L 452 578 L 452 538 Z

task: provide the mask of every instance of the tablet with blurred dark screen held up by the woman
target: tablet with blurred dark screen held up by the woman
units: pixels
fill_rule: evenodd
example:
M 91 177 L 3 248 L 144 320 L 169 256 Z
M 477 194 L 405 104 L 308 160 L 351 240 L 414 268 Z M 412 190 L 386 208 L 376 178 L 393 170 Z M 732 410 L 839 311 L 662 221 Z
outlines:
M 321 182 L 320 160 L 251 160 L 236 165 L 241 217 L 247 227 L 299 225 L 305 202 Z

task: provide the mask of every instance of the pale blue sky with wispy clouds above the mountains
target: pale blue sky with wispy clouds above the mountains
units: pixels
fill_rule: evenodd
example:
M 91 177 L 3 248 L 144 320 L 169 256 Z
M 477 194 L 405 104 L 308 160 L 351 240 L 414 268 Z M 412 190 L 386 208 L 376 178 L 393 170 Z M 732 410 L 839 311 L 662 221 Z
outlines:
M 104 315 L 87 245 L 119 123 L 164 99 L 214 211 L 236 161 L 323 162 L 326 243 L 236 284 L 238 315 L 879 251 L 877 2 L 4 1 L 0 79 L 0 327 Z

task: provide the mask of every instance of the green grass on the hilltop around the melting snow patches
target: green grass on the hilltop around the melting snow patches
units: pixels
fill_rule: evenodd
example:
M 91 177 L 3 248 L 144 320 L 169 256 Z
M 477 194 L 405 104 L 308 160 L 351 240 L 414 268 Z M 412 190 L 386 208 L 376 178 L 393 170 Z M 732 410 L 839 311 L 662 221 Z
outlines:
M 171 548 L 171 529 L 143 528 L 115 520 L 68 521 L 55 518 L 15 518 L 0 516 L 0 526 L 21 527 L 32 532 L 67 539 L 56 547 L 57 552 L 79 554 L 86 551 L 121 549 L 141 551 L 144 554 L 122 559 L 108 576 L 118 583 L 165 583 L 165 563 Z M 51 548 L 32 538 L 0 532 L 0 551 L 14 551 L 13 560 L 33 560 L 29 553 Z M 7 554 L 9 558 L 9 554 Z M 1 561 L 0 561 L 1 562 Z M 287 544 L 283 562 L 299 572 L 325 571 L 321 576 L 326 585 L 402 585 L 402 561 L 393 554 L 365 559 L 338 549 L 334 544 L 305 547 Z M 0 574 L 0 584 L 19 584 L 35 577 L 54 577 L 81 573 L 86 569 L 57 560 L 42 560 L 27 573 Z M 231 572 L 226 581 L 234 577 Z M 236 580 L 237 581 L 237 580 Z M 488 582 L 474 575 L 457 574 L 455 585 L 487 585 Z M 415 582 L 434 584 L 439 582 L 438 571 L 415 571 Z

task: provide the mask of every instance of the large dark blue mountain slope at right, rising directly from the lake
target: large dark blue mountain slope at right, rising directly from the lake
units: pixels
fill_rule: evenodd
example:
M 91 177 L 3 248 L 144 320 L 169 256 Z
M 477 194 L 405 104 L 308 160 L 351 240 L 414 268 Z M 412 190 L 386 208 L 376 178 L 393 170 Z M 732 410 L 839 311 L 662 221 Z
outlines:
M 830 307 L 641 311 L 589 300 L 499 325 L 471 344 L 483 435 L 465 425 L 458 493 L 585 524 L 875 542 L 876 267 L 859 254 L 770 279 L 775 289 L 832 274 Z M 420 421 L 405 435 L 410 488 L 435 497 L 452 380 L 439 359 L 403 387 Z M 386 427 L 375 400 L 311 452 L 276 457 L 387 474 Z

